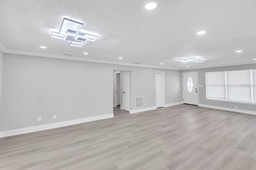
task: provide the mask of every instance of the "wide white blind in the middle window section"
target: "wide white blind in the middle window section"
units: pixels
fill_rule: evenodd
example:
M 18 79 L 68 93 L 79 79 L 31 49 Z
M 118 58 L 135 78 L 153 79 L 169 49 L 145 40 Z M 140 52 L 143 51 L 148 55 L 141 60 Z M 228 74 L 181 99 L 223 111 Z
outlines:
M 252 102 L 250 70 L 227 71 L 228 100 Z

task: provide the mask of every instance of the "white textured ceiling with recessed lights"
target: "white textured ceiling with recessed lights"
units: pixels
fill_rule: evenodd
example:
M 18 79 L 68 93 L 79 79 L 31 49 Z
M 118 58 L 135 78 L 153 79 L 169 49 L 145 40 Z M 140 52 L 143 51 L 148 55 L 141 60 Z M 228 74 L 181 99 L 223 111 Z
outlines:
M 154 10 L 143 7 L 147 1 L 0 0 L 0 43 L 21 53 L 176 69 L 256 63 L 256 0 L 156 0 Z M 81 31 L 99 38 L 83 47 L 51 38 L 64 17 L 84 23 Z M 206 34 L 196 35 L 201 30 Z M 205 62 L 174 61 L 193 56 Z

